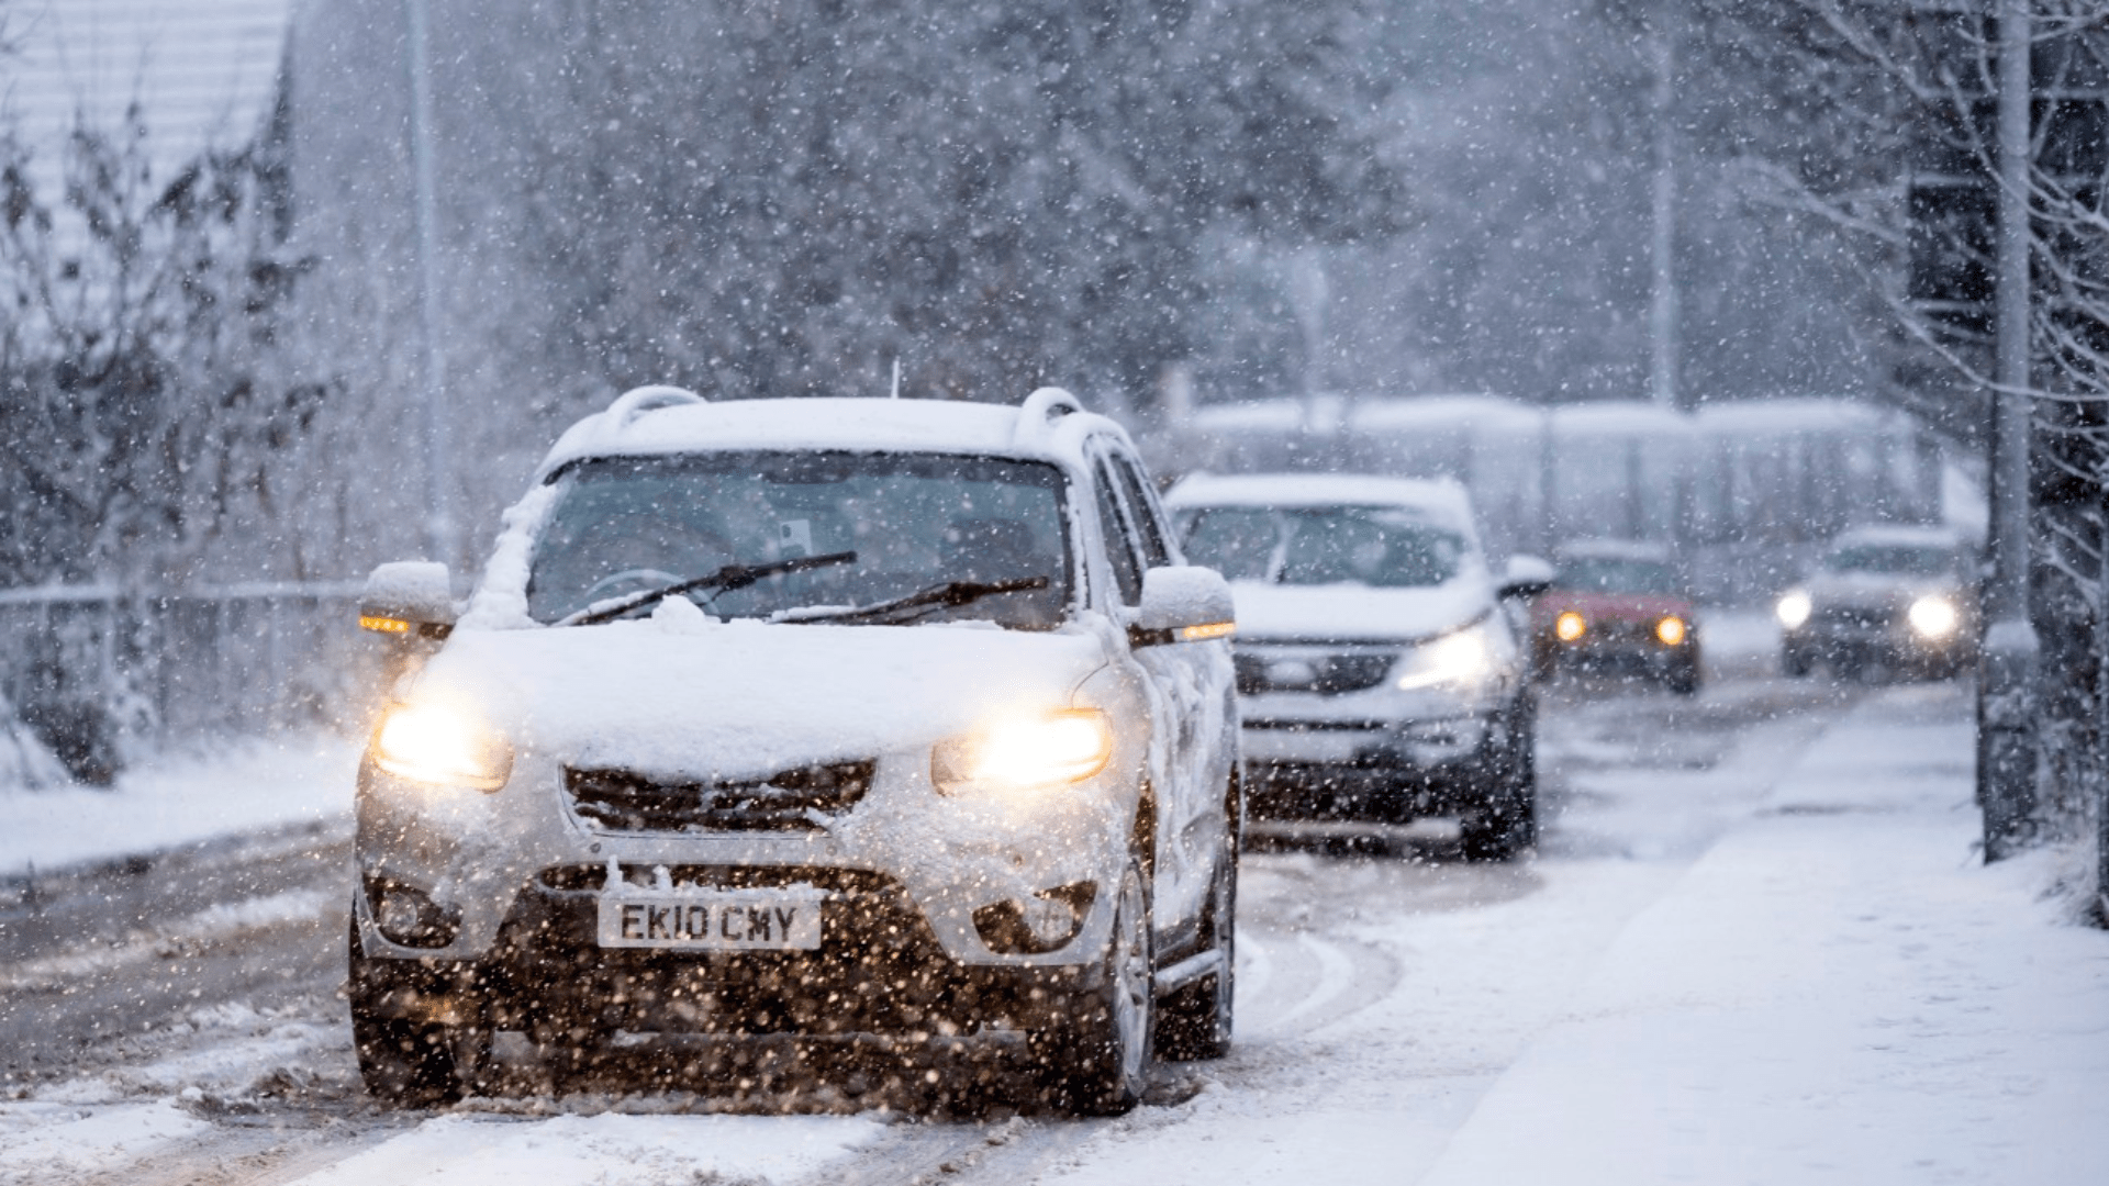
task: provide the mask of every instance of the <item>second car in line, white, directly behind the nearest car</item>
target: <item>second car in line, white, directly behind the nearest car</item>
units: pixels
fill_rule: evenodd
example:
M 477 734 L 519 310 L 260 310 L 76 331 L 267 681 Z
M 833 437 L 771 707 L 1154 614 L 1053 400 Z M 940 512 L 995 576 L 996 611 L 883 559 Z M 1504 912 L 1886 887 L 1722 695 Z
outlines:
M 1166 498 L 1238 599 L 1253 827 L 1455 817 L 1470 857 L 1537 838 L 1537 709 L 1453 481 L 1194 475 Z M 1293 827 L 1291 827 L 1293 829 Z

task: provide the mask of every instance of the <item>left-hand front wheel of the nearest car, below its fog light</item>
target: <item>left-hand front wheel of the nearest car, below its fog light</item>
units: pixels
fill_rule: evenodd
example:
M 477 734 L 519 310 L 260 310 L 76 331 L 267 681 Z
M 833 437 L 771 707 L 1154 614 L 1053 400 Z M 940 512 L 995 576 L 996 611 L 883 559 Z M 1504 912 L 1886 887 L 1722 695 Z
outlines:
M 352 1047 L 367 1093 L 394 1108 L 434 1108 L 458 1102 L 479 1085 L 491 1055 L 491 1032 L 388 1017 L 380 1000 L 390 988 L 388 969 L 375 967 L 359 945 L 359 920 L 350 929 Z

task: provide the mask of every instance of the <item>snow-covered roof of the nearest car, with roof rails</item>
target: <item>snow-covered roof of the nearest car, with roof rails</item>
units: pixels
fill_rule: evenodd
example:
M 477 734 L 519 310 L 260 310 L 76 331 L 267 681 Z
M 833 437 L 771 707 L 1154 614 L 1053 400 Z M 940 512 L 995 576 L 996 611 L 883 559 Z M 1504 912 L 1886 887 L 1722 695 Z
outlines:
M 580 458 L 717 449 L 903 449 L 1080 462 L 1092 431 L 1126 439 L 1120 424 L 1084 412 L 1059 388 L 1002 405 L 844 397 L 711 403 L 681 388 L 650 386 L 565 431 L 542 458 L 536 481 Z

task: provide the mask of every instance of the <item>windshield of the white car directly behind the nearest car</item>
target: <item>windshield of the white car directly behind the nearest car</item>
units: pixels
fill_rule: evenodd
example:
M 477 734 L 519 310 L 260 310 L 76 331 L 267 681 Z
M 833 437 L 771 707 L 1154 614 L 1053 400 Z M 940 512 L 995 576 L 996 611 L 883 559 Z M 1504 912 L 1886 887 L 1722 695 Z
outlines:
M 1187 559 L 1230 580 L 1443 585 L 1464 547 L 1457 532 L 1394 506 L 1211 506 L 1185 521 Z

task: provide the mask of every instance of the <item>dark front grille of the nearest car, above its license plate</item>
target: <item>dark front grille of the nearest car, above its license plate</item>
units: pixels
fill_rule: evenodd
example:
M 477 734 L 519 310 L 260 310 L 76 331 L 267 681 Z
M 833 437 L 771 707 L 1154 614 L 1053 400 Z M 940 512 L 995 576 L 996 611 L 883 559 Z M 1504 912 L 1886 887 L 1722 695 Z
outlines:
M 673 783 L 631 770 L 563 768 L 572 810 L 610 831 L 818 831 L 856 806 L 875 762 L 793 766 L 761 779 Z

